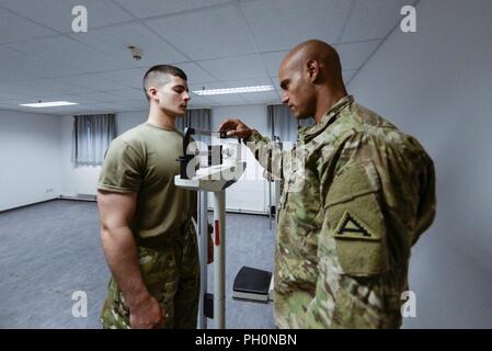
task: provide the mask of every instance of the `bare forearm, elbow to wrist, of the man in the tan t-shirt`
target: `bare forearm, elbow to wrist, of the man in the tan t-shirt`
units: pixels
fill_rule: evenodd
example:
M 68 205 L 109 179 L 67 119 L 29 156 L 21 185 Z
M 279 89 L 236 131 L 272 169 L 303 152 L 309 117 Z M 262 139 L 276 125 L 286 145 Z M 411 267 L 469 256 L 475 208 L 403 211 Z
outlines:
M 137 247 L 129 227 L 101 233 L 107 265 L 130 309 L 150 297 L 141 278 Z

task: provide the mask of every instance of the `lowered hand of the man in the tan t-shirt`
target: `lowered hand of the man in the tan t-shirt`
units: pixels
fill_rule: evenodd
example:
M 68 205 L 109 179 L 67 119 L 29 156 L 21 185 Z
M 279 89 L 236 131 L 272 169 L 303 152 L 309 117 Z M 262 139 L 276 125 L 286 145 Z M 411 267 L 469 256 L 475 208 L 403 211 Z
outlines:
M 152 329 L 162 327 L 168 315 L 156 298 L 148 296 L 133 308 L 129 322 L 131 329 Z

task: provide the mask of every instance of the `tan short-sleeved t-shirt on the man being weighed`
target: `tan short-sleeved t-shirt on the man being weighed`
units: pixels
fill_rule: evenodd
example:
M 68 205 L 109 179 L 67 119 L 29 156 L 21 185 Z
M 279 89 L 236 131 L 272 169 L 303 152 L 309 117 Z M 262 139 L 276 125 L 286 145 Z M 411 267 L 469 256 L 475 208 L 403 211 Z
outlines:
M 176 188 L 176 158 L 183 150 L 183 135 L 149 123 L 115 138 L 105 156 L 99 190 L 138 193 L 130 228 L 135 237 L 175 234 L 196 206 L 193 191 Z

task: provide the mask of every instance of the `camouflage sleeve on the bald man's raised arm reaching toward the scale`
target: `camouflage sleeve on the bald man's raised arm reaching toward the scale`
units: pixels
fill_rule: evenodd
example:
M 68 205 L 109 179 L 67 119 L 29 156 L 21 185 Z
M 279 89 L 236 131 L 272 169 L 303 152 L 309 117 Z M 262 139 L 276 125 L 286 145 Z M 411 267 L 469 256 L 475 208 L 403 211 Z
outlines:
M 270 138 L 253 129 L 253 134 L 245 140 L 245 144 L 253 152 L 254 158 L 268 172 L 270 180 L 283 179 L 283 151 L 277 143 L 272 143 Z

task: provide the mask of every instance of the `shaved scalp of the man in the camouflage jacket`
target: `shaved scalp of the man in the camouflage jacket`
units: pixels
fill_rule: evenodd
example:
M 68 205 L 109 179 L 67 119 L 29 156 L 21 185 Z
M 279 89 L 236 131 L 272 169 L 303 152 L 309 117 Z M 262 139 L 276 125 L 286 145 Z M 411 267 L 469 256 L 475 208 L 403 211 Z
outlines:
M 342 65 L 336 50 L 329 44 L 310 39 L 294 47 L 283 59 L 282 69 L 302 69 L 307 63 L 319 65 L 319 82 L 343 84 Z

